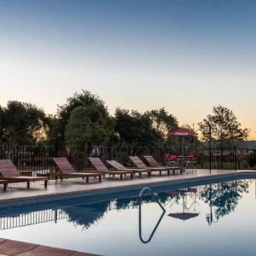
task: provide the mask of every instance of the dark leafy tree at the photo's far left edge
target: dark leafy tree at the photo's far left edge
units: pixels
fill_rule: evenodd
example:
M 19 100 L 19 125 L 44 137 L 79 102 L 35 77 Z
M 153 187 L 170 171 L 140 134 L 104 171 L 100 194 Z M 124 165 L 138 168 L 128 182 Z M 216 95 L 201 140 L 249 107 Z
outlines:
M 9 101 L 1 110 L 2 141 L 33 144 L 42 139 L 48 123 L 44 110 L 26 102 Z

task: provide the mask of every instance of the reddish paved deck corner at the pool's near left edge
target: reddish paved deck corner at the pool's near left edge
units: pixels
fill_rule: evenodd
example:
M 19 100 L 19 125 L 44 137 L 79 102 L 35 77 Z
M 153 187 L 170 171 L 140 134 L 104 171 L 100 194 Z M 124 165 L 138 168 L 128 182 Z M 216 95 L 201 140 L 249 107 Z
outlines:
M 44 247 L 34 243 L 0 238 L 0 256 L 97 256 L 55 247 Z M 99 255 L 98 255 L 99 256 Z

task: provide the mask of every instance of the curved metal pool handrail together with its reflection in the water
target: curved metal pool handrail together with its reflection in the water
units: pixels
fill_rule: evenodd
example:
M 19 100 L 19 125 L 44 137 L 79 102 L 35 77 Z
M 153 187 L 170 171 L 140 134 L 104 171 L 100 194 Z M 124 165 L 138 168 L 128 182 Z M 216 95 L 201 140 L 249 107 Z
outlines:
M 152 195 L 152 198 L 154 199 L 154 201 L 156 201 L 157 203 L 158 203 L 158 205 L 161 207 L 161 209 L 163 210 L 163 212 L 162 212 L 162 214 L 161 214 L 161 216 L 160 216 L 160 218 L 159 218 L 159 220 L 158 220 L 158 222 L 155 224 L 155 226 L 154 226 L 154 230 L 151 232 L 151 235 L 148 237 L 148 240 L 144 240 L 143 239 L 143 232 L 142 232 L 142 202 L 143 202 L 143 193 L 145 192 L 145 191 L 149 191 L 150 192 L 150 194 Z M 140 198 L 140 202 L 139 202 L 139 238 L 140 238 L 140 240 L 143 242 L 143 243 L 148 243 L 149 241 L 151 241 L 151 239 L 153 238 L 153 236 L 154 236 L 154 233 L 155 233 L 155 231 L 157 230 L 157 228 L 158 228 L 158 226 L 159 226 L 159 224 L 160 224 L 160 222 L 161 222 L 161 220 L 162 220 L 162 218 L 164 217 L 164 215 L 165 215 L 165 213 L 166 213 L 166 209 L 165 209 L 165 207 L 163 207 L 162 206 L 162 204 L 160 203 L 160 201 L 159 200 L 157 200 L 157 198 L 156 198 L 156 194 L 154 194 L 154 192 L 151 190 L 151 189 L 149 189 L 149 188 L 143 188 L 142 190 L 141 190 L 141 192 L 140 192 L 140 194 L 139 194 L 139 198 Z

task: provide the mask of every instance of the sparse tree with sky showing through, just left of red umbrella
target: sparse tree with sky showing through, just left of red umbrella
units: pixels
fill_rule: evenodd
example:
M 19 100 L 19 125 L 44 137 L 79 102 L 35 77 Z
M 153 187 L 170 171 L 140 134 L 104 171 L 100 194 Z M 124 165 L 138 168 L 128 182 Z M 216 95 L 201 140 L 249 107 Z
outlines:
M 167 113 L 165 108 L 159 110 L 151 110 L 145 113 L 152 121 L 152 125 L 161 136 L 166 138 L 169 131 L 177 129 L 177 118 L 171 113 Z

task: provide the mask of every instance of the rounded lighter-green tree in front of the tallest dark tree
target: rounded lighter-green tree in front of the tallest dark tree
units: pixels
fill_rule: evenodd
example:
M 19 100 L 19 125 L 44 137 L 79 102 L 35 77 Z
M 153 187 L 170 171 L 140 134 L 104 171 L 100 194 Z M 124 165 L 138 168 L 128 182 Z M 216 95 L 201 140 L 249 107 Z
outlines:
M 97 105 L 73 109 L 66 126 L 67 145 L 99 145 L 107 143 L 113 132 L 113 122 Z

